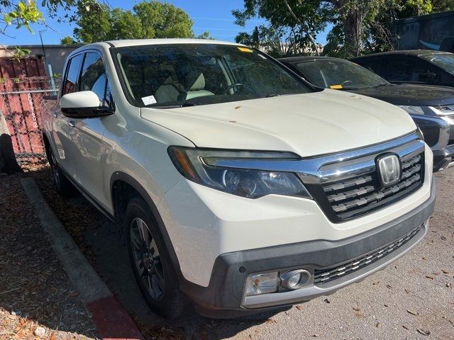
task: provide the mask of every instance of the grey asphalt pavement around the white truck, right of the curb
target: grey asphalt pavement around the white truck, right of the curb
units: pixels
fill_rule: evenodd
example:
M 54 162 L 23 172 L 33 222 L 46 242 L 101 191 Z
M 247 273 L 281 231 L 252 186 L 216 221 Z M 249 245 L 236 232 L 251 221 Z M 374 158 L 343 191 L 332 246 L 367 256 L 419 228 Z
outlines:
M 172 323 L 143 303 L 114 226 L 81 196 L 57 196 L 48 169 L 31 174 L 148 339 L 454 339 L 454 169 L 436 175 L 436 212 L 426 238 L 383 271 L 274 314 L 210 320 L 192 310 Z

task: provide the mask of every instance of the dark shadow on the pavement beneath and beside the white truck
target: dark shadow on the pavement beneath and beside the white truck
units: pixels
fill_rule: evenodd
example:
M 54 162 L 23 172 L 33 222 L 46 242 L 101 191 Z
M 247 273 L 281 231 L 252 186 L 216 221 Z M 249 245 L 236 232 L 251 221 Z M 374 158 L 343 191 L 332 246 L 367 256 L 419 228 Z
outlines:
M 61 198 L 54 190 L 48 168 L 28 173 L 38 181 L 52 210 L 92 263 L 101 278 L 133 317 L 149 339 L 226 339 L 270 319 L 267 312 L 236 319 L 214 320 L 201 317 L 193 308 L 173 322 L 154 314 L 135 283 L 126 246 L 115 225 L 96 210 L 82 195 Z

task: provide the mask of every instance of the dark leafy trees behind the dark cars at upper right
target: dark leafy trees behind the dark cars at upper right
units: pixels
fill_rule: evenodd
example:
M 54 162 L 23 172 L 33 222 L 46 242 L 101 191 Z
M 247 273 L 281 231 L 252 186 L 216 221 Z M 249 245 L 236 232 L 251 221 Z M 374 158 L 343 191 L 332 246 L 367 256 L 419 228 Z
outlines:
M 287 0 L 294 18 L 285 3 L 244 0 L 243 9 L 233 11 L 236 23 L 244 26 L 248 20 L 263 18 L 267 24 L 252 34 L 238 34 L 236 40 L 265 50 L 272 45 L 274 52 L 285 55 L 301 54 L 313 46 L 309 35 L 316 37 L 329 23 L 333 28 L 323 54 L 352 57 L 392 49 L 397 38 L 393 24 L 399 18 L 454 9 L 454 0 Z

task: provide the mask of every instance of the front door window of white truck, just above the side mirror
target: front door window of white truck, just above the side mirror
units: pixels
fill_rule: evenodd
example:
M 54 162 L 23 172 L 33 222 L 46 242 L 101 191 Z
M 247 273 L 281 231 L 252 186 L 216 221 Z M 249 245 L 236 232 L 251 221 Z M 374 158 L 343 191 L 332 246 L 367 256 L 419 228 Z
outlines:
M 98 53 L 89 52 L 85 55 L 80 77 L 80 91 L 93 91 L 99 98 L 100 106 L 113 107 L 106 69 Z

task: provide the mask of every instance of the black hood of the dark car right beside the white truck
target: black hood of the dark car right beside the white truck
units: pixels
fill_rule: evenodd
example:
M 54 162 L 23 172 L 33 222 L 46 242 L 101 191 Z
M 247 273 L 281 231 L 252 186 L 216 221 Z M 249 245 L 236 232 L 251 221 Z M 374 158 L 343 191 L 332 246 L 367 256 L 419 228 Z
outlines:
M 444 86 L 387 84 L 370 89 L 346 90 L 394 105 L 441 106 L 454 103 L 454 89 Z

